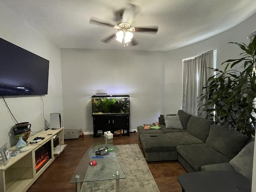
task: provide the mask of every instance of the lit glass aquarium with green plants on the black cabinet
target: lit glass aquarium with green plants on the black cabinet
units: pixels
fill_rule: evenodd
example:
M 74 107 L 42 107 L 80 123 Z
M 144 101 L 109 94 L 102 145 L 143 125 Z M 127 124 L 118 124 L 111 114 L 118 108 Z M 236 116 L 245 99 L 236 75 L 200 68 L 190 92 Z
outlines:
M 130 114 L 129 95 L 92 96 L 92 115 Z

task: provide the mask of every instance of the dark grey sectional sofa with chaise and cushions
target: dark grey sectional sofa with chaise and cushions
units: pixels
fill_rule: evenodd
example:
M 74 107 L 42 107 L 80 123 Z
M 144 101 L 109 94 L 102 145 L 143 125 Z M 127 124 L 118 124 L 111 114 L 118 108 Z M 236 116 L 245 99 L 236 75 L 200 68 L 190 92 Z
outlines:
M 252 179 L 254 141 L 247 136 L 183 110 L 159 122 L 160 129 L 137 127 L 148 162 L 178 160 L 187 172 L 236 170 Z

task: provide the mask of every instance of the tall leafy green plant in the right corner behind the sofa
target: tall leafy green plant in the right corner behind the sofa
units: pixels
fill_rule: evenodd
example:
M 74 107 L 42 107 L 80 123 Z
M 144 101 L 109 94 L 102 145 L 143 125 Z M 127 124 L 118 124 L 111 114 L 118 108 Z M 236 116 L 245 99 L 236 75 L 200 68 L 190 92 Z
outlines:
M 240 54 L 243 56 L 223 62 L 226 64 L 223 71 L 213 69 L 216 75 L 202 88 L 206 89 L 201 95 L 201 100 L 206 99 L 202 111 L 215 124 L 226 125 L 251 137 L 255 135 L 252 124 L 256 121 L 253 114 L 256 112 L 256 36 L 248 45 L 230 43 L 238 45 L 244 51 Z M 240 66 L 240 70 L 234 70 L 234 66 Z

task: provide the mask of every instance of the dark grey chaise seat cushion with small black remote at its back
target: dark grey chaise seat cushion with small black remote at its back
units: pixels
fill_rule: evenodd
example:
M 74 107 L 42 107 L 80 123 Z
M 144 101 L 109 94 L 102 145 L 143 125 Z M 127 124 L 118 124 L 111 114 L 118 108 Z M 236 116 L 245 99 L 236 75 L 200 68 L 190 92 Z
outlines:
M 156 137 L 150 137 L 150 134 L 140 135 L 140 142 L 144 152 L 176 151 L 176 146 L 165 134 L 154 135 Z

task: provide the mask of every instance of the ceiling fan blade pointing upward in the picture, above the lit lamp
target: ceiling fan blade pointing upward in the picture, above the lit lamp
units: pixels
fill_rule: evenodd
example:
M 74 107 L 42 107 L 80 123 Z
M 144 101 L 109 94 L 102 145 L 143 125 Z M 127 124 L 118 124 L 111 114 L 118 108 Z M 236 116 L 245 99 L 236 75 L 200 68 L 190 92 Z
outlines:
M 122 13 L 122 22 L 129 23 L 131 25 L 139 11 L 139 6 L 127 3 L 127 6 Z

